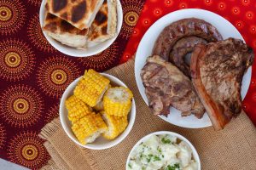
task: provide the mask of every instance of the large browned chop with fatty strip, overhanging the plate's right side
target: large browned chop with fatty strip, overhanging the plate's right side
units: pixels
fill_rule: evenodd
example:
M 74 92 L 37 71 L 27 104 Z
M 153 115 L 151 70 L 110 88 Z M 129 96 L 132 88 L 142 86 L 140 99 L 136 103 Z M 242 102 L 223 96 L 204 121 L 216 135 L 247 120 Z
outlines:
M 195 47 L 192 82 L 217 130 L 241 112 L 241 81 L 253 56 L 252 48 L 234 38 Z

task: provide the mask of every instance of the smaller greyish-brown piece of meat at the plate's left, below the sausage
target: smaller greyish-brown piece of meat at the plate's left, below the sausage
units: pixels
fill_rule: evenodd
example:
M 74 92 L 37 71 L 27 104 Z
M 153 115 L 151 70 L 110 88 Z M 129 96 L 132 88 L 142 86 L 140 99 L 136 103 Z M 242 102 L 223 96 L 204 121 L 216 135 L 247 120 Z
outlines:
M 182 116 L 189 116 L 191 113 L 198 118 L 203 116 L 204 107 L 196 96 L 191 81 L 172 63 L 157 55 L 148 57 L 141 77 L 149 107 L 154 114 L 168 115 L 172 105 L 182 111 Z

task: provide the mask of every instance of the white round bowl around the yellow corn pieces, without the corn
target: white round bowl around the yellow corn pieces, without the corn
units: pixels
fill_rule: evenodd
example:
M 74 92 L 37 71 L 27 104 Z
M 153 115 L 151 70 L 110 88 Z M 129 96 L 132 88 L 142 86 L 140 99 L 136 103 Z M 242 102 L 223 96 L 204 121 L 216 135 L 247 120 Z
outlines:
M 104 77 L 107 77 L 110 80 L 111 84 L 117 85 L 117 86 L 122 86 L 127 88 L 124 82 L 121 82 L 118 78 L 113 77 L 111 75 L 101 73 Z M 67 133 L 67 136 L 73 140 L 74 143 L 79 144 L 80 146 L 92 150 L 104 150 L 108 149 L 110 147 L 113 147 L 116 144 L 119 144 L 122 140 L 125 139 L 125 137 L 131 132 L 131 128 L 134 124 L 135 121 L 135 116 L 136 116 L 136 105 L 134 99 L 132 99 L 132 104 L 131 104 L 131 111 L 128 115 L 128 126 L 126 127 L 125 131 L 121 133 L 116 139 L 108 140 L 104 139 L 102 136 L 96 139 L 91 144 L 80 144 L 79 140 L 75 137 L 73 134 L 73 131 L 71 129 L 71 122 L 67 118 L 67 108 L 65 106 L 65 101 L 68 97 L 73 95 L 73 90 L 76 87 L 76 85 L 79 82 L 79 79 L 81 77 L 77 78 L 75 81 L 73 81 L 65 90 L 64 94 L 61 97 L 61 105 L 60 105 L 60 118 L 61 118 L 61 126 L 63 127 L 65 133 Z

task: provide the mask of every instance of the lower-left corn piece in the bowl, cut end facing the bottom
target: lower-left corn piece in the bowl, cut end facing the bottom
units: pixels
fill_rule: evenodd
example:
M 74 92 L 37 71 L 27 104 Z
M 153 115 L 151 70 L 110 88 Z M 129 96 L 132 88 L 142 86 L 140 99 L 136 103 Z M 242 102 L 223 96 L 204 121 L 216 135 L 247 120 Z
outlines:
M 75 122 L 72 126 L 73 133 L 81 144 L 92 143 L 101 133 L 108 130 L 101 114 L 90 113 Z

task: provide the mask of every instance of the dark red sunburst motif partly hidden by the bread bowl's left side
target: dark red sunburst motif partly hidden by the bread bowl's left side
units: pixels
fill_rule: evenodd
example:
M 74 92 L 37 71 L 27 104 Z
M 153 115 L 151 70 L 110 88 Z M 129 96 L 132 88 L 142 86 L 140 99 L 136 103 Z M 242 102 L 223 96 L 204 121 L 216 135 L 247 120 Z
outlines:
M 28 23 L 27 36 L 32 44 L 41 51 L 44 52 L 54 52 L 53 48 L 47 39 L 44 37 L 42 28 L 39 23 L 39 15 L 35 14 L 32 16 L 31 20 Z

